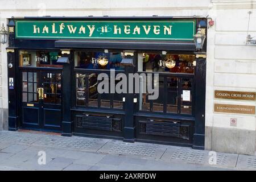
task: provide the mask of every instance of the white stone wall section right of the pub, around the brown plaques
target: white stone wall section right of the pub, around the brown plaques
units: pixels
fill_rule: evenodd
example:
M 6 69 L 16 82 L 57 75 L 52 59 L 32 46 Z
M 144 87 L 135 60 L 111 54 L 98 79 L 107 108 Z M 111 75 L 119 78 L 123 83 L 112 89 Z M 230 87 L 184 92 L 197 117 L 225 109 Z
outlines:
M 230 147 L 222 146 L 224 152 L 254 154 L 255 151 L 255 114 L 214 113 L 214 103 L 256 105 L 255 101 L 214 99 L 214 90 L 256 92 L 256 46 L 246 45 L 249 11 L 252 12 L 249 34 L 256 36 L 256 1 L 212 1 L 212 9 L 209 10 L 209 17 L 215 22 L 208 29 L 207 40 L 205 125 L 213 128 L 206 133 L 212 134 L 205 142 L 209 150 L 220 150 L 218 145 L 226 143 Z M 236 127 L 230 126 L 230 118 L 237 118 Z M 226 131 L 225 136 L 230 131 L 230 138 L 225 139 L 220 131 Z M 243 138 L 240 133 L 253 137 Z M 243 146 L 248 143 L 250 149 L 245 150 Z

